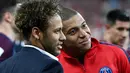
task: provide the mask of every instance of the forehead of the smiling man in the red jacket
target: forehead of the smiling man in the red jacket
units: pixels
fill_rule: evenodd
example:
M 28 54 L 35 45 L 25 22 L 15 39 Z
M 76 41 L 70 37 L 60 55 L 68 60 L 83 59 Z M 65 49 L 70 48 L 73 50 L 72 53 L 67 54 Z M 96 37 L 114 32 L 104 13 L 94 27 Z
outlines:
M 79 13 L 77 13 L 69 20 L 63 22 L 63 28 L 65 30 L 69 30 L 73 27 L 79 27 L 84 21 L 85 21 L 84 18 Z

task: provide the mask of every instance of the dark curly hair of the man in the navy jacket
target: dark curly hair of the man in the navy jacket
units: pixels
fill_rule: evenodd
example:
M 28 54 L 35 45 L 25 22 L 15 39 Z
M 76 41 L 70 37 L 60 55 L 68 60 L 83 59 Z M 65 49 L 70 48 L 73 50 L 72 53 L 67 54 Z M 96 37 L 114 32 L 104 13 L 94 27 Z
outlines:
M 58 13 L 56 0 L 28 1 L 21 5 L 16 16 L 16 25 L 22 32 L 23 38 L 28 40 L 33 27 L 45 32 L 49 19 Z

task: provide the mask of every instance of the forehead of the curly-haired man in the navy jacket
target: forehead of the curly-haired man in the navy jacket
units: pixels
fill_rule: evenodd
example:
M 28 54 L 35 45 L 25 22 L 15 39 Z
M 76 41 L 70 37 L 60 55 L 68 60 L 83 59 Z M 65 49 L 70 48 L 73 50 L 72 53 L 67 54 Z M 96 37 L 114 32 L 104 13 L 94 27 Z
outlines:
M 62 26 L 63 25 L 62 25 L 61 17 L 59 16 L 59 14 L 55 14 L 54 16 L 50 18 L 48 28 L 53 29 L 53 28 L 58 28 Z

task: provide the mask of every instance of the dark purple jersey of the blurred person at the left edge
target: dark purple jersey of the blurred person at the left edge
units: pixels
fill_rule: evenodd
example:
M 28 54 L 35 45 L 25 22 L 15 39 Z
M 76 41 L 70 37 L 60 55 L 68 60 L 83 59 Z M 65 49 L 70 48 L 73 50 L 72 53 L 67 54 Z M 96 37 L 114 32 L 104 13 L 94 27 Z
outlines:
M 0 33 L 0 62 L 12 56 L 13 46 L 14 42 L 4 34 Z

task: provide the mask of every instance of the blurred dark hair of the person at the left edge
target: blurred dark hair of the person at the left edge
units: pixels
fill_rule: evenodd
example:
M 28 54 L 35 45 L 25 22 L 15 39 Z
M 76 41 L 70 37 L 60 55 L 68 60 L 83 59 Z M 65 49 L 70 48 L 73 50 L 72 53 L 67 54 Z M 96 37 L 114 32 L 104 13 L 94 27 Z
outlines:
M 14 7 L 16 6 L 16 0 L 0 0 L 0 21 L 3 18 L 3 14 L 8 12 L 14 12 Z

